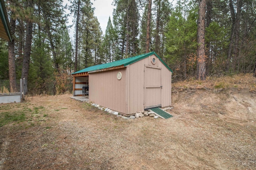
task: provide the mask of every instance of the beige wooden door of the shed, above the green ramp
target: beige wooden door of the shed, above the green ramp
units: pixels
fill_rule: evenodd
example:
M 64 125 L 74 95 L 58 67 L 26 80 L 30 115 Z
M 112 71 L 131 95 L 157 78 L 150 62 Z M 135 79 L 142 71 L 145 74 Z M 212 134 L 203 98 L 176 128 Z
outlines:
M 144 109 L 161 107 L 161 67 L 145 65 L 144 71 Z

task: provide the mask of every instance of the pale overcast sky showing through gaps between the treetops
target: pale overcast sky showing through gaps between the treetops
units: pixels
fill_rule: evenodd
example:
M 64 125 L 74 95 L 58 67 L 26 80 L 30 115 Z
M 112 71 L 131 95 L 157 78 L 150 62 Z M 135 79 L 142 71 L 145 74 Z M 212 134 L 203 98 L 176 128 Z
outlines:
M 108 24 L 108 18 L 110 16 L 111 20 L 112 20 L 112 12 L 114 10 L 114 6 L 112 6 L 112 2 L 113 0 L 91 0 L 91 2 L 93 3 L 92 7 L 94 7 L 94 16 L 96 16 L 98 18 L 98 21 L 100 23 L 100 27 L 102 29 L 102 33 L 105 34 L 105 30 Z M 70 2 L 68 2 L 68 0 L 63 0 L 63 4 L 66 5 L 70 5 Z M 66 10 L 66 12 L 69 14 L 70 11 Z M 72 20 L 73 20 L 73 16 L 70 15 L 68 18 L 68 25 L 72 24 Z M 75 27 L 71 27 L 69 29 L 69 35 L 70 38 L 72 39 L 72 41 L 74 41 L 75 37 Z

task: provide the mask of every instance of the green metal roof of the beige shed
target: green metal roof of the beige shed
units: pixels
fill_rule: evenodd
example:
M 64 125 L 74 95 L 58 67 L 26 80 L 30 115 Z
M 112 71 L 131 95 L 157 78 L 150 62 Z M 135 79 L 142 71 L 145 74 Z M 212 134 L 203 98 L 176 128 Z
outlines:
M 101 69 L 104 69 L 104 68 L 111 68 L 111 67 L 115 67 L 115 66 L 122 66 L 122 65 L 127 66 L 127 65 L 130 65 L 130 64 L 135 63 L 137 61 L 140 61 L 142 59 L 145 59 L 146 57 L 149 57 L 151 55 L 156 55 L 156 57 L 166 66 L 166 68 L 168 68 L 168 70 L 170 70 L 170 72 L 172 72 L 172 70 L 167 66 L 167 64 L 164 63 L 164 61 L 153 51 L 153 52 L 150 52 L 150 53 L 137 55 L 137 56 L 134 56 L 134 57 L 114 61 L 114 62 L 111 62 L 111 63 L 90 66 L 90 67 L 84 68 L 82 70 L 79 70 L 77 72 L 74 72 L 72 74 L 77 74 L 77 73 L 82 73 L 82 72 L 90 72 L 90 71 L 95 71 L 95 70 L 101 70 Z

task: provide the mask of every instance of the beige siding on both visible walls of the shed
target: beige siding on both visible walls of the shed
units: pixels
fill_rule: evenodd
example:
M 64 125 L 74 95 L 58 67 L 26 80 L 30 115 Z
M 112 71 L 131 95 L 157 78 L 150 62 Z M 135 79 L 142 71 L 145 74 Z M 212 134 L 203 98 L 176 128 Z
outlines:
M 90 73 L 89 87 L 90 102 L 126 115 L 144 110 L 145 104 L 171 106 L 171 72 L 154 55 L 125 68 Z

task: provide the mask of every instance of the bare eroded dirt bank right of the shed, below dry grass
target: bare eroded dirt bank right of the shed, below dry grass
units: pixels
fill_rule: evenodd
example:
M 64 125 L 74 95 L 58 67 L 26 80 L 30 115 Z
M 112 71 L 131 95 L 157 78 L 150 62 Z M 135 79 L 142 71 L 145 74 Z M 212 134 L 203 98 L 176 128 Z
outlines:
M 217 115 L 236 123 L 256 120 L 256 94 L 248 89 L 185 90 L 172 94 L 172 104 L 176 110 Z

